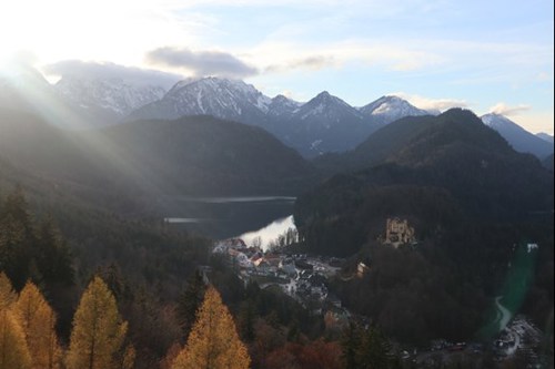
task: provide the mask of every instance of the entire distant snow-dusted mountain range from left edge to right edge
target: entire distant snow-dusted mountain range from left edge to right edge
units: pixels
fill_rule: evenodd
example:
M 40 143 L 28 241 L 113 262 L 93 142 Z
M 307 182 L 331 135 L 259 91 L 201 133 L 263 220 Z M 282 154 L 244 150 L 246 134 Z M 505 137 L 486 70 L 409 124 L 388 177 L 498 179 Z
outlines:
M 10 109 L 36 111 L 51 123 L 70 129 L 212 115 L 262 127 L 309 158 L 353 150 L 398 119 L 438 114 L 393 95 L 362 107 L 351 106 L 326 91 L 305 103 L 283 95 L 271 99 L 243 81 L 220 78 L 178 81 L 169 91 L 162 85 L 70 74 L 52 85 L 30 68 L 19 68 L 11 79 L 0 76 L 0 103 Z M 483 115 L 482 121 L 518 152 L 541 160 L 553 153 L 549 135 L 533 135 L 498 114 Z

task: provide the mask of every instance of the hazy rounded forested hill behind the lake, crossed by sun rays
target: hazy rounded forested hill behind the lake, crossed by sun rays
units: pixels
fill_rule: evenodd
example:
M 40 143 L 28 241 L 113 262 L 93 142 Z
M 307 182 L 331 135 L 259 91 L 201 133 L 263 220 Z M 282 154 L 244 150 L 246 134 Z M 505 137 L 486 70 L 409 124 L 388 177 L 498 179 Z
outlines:
M 296 195 L 316 176 L 265 131 L 210 116 L 68 132 L 0 109 L 0 132 L 10 167 L 125 214 L 163 212 L 167 196 Z

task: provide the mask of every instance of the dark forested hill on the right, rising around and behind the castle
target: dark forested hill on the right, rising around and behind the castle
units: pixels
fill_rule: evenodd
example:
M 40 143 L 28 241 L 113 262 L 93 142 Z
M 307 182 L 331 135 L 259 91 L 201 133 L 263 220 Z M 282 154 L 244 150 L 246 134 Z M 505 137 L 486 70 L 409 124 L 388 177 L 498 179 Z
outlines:
M 547 276 L 553 269 L 553 173 L 468 111 L 393 124 L 412 130 L 396 150 L 382 150 L 373 166 L 335 175 L 297 198 L 303 242 L 295 252 L 350 256 L 353 276 L 359 262 L 370 265 L 361 278 L 344 274 L 334 293 L 400 341 L 470 339 L 515 260 L 525 255 Z M 414 228 L 415 243 L 383 242 L 395 217 Z M 539 245 L 537 254 L 527 243 Z M 552 296 L 553 278 L 526 273 L 525 291 Z M 551 310 L 547 304 L 542 319 Z

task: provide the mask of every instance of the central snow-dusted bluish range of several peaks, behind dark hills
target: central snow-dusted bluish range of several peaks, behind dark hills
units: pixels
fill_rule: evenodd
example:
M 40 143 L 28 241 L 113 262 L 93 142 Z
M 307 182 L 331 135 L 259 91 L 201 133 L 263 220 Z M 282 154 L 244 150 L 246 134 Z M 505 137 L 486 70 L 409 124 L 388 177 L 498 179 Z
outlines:
M 242 81 L 205 78 L 176 83 L 161 100 L 132 112 L 128 120 L 176 119 L 210 114 L 261 126 L 305 157 L 350 150 L 380 126 L 428 112 L 396 96 L 383 96 L 361 109 L 324 91 L 300 103 L 265 96 Z

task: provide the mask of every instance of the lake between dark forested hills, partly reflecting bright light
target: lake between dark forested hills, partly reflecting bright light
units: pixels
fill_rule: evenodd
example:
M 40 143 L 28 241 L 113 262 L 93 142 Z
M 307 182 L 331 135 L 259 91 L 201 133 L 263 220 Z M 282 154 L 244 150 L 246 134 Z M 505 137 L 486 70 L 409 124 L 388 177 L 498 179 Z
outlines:
M 172 197 L 164 221 L 215 239 L 241 236 L 250 244 L 260 236 L 264 247 L 294 227 L 294 202 L 290 196 Z

